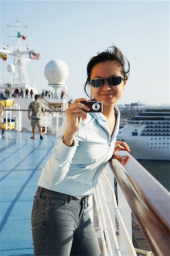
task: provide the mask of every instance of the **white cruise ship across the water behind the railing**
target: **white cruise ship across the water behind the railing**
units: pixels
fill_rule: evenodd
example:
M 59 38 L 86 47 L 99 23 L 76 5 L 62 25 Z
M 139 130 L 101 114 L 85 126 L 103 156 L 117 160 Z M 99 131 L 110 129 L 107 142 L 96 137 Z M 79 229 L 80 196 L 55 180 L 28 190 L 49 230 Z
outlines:
M 117 139 L 126 141 L 135 159 L 170 160 L 170 109 L 146 109 L 126 119 Z

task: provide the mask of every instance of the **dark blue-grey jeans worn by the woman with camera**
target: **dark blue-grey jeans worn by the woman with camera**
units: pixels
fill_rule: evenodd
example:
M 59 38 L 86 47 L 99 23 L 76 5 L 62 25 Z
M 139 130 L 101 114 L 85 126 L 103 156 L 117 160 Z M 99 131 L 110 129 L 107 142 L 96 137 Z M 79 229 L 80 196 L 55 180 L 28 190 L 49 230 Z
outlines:
M 87 207 L 87 196 L 78 199 L 39 187 L 31 217 L 35 256 L 101 256 Z

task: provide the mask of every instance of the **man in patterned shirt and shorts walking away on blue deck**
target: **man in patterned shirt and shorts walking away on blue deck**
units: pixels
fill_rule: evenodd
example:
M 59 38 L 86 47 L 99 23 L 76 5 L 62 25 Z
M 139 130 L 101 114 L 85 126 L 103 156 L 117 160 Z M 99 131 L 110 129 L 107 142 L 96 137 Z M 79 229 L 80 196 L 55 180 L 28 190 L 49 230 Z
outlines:
M 32 115 L 30 117 L 30 112 L 32 111 Z M 40 102 L 40 96 L 35 95 L 35 101 L 31 102 L 28 107 L 28 119 L 31 119 L 32 133 L 33 136 L 31 139 L 35 139 L 36 126 L 39 127 L 40 139 L 42 137 L 42 127 L 41 127 L 41 113 L 45 111 L 44 106 Z

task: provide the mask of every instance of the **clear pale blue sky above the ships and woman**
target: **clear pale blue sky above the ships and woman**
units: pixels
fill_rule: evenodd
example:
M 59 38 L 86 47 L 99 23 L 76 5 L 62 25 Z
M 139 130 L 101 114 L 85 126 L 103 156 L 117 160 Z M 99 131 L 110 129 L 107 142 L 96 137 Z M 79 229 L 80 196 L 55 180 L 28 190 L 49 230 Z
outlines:
M 31 38 L 40 60 L 27 63 L 28 76 L 39 92 L 50 89 L 44 76 L 50 60 L 69 67 L 70 97 L 84 97 L 86 67 L 92 56 L 113 44 L 130 62 L 129 81 L 118 104 L 141 101 L 169 104 L 169 1 L 1 1 L 0 44 L 14 44 L 16 17 L 26 46 Z M 0 80 L 12 59 L 0 59 Z

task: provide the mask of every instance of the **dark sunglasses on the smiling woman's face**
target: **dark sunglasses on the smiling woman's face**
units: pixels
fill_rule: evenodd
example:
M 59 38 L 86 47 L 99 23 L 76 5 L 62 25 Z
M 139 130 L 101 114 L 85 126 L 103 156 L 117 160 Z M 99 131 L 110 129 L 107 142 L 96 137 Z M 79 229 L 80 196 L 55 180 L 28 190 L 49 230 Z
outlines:
M 108 79 L 91 79 L 90 84 L 93 87 L 101 87 L 107 81 L 109 85 L 114 86 L 121 84 L 121 82 L 125 79 L 125 76 L 112 76 Z

